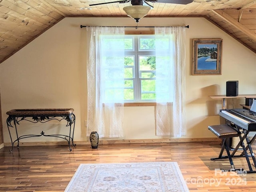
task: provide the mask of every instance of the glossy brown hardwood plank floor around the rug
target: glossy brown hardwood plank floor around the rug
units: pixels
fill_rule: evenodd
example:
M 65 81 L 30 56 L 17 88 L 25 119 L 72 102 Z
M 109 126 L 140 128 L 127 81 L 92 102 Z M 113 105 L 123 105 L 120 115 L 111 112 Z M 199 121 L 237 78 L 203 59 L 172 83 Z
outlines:
M 255 145 L 253 146 L 255 147 Z M 81 163 L 178 162 L 190 192 L 255 192 L 256 174 L 238 176 L 228 159 L 211 161 L 219 142 L 20 146 L 0 149 L 0 192 L 63 192 Z M 236 168 L 247 168 L 234 158 Z

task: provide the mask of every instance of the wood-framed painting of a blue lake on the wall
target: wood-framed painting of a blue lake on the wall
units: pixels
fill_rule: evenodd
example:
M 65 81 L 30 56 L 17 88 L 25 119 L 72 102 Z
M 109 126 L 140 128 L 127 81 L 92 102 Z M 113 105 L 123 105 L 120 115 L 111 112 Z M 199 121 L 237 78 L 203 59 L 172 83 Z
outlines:
M 222 39 L 193 39 L 192 75 L 221 75 Z

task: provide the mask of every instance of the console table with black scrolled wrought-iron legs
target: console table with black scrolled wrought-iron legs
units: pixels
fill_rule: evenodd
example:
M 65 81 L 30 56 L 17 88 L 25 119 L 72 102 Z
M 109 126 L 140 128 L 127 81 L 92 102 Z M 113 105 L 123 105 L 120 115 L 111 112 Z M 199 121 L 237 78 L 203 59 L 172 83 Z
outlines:
M 10 127 L 15 128 L 16 131 L 16 137 L 17 139 L 12 142 L 12 149 L 13 150 L 14 143 L 17 141 L 17 147 L 19 147 L 20 139 L 29 138 L 29 137 L 40 137 L 40 136 L 50 136 L 50 137 L 58 137 L 66 140 L 68 142 L 69 150 L 72 151 L 70 148 L 70 142 L 72 142 L 73 146 L 76 146 L 74 144 L 74 129 L 75 129 L 75 121 L 76 117 L 73 114 L 74 109 L 13 109 L 6 114 L 8 114 L 8 118 L 6 120 L 8 131 L 10 134 L 11 142 L 12 142 L 12 134 L 10 131 Z M 32 123 L 46 123 L 50 120 L 58 120 L 59 122 L 61 120 L 66 120 L 67 124 L 66 127 L 69 127 L 69 135 L 62 135 L 62 134 L 54 134 L 54 135 L 46 135 L 44 134 L 44 131 L 42 131 L 38 135 L 18 135 L 17 131 L 17 125 L 20 124 L 21 121 L 29 121 Z

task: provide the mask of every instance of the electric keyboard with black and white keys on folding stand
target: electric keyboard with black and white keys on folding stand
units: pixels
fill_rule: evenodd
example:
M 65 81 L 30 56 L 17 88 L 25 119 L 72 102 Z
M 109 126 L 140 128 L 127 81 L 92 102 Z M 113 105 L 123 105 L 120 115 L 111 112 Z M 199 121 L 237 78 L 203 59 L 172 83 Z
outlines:
M 242 129 L 256 131 L 256 114 L 246 109 L 222 109 L 219 115 Z

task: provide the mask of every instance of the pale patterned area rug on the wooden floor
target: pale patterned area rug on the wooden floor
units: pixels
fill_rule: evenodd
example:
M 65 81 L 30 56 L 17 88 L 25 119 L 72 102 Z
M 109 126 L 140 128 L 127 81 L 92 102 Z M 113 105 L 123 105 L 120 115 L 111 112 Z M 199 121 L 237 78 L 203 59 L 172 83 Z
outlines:
M 189 192 L 177 162 L 80 164 L 65 192 Z

